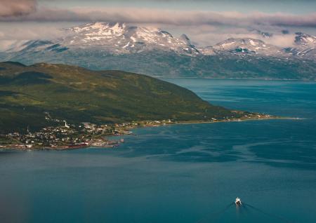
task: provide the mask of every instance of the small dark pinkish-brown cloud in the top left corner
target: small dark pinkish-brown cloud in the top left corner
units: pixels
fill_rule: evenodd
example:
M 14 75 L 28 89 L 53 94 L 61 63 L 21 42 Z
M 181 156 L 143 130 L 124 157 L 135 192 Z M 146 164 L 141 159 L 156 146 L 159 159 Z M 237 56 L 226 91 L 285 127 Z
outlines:
M 22 15 L 35 13 L 36 0 L 1 0 L 0 18 L 17 18 Z

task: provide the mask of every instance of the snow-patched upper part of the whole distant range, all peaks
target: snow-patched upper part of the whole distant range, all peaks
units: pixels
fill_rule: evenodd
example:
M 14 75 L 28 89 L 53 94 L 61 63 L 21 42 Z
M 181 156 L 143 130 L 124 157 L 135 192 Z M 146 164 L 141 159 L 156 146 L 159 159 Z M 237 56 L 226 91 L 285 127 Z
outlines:
M 251 38 L 230 38 L 215 46 L 197 48 L 185 34 L 176 38 L 162 29 L 136 27 L 119 22 L 93 22 L 65 29 L 65 35 L 60 39 L 11 41 L 3 51 L 6 53 L 29 53 L 42 50 L 62 52 L 68 49 L 91 50 L 93 48 L 112 54 L 161 50 L 190 56 L 234 54 L 289 57 L 289 55 L 294 55 L 300 58 L 316 59 L 316 37 L 301 32 L 296 33 L 292 48 L 279 48 Z

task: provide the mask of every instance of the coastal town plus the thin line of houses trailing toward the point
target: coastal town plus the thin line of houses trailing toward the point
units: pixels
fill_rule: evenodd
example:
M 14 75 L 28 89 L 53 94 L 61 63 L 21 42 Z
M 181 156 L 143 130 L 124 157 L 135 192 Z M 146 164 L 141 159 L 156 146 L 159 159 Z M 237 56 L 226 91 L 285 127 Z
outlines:
M 97 125 L 95 123 L 83 122 L 79 124 L 67 123 L 65 120 L 53 119 L 57 125 L 41 128 L 32 132 L 27 126 L 26 133 L 8 133 L 0 135 L 0 149 L 79 149 L 85 147 L 114 148 L 124 142 L 124 138 L 119 140 L 109 140 L 109 136 L 135 135 L 131 131 L 138 127 L 166 126 L 171 124 L 185 123 L 215 123 L 221 121 L 246 121 L 258 119 L 276 119 L 268 114 L 244 114 L 239 119 L 225 117 L 224 119 L 212 118 L 207 121 L 174 121 L 171 119 L 162 121 L 138 121 L 126 123 L 110 123 Z M 51 117 L 46 116 L 48 121 Z

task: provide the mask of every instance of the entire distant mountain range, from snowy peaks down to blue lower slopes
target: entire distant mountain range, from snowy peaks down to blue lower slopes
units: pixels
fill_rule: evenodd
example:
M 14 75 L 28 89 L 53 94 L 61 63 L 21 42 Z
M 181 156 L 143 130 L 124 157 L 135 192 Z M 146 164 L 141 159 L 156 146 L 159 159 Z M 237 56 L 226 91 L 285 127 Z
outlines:
M 291 48 L 251 38 L 230 38 L 198 48 L 185 34 L 176 38 L 156 28 L 94 22 L 65 29 L 60 39 L 12 41 L 0 52 L 0 60 L 28 65 L 65 63 L 164 77 L 315 80 L 316 37 L 298 32 Z

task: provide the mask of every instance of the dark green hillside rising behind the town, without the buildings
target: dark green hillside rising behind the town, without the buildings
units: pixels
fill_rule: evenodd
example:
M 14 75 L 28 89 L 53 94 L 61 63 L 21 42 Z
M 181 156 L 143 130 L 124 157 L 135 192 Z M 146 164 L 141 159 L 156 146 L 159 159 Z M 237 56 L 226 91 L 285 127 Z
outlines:
M 45 117 L 70 123 L 203 121 L 239 116 L 150 76 L 45 63 L 0 63 L 0 130 L 36 130 Z

